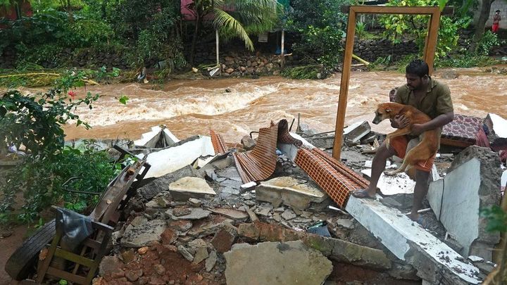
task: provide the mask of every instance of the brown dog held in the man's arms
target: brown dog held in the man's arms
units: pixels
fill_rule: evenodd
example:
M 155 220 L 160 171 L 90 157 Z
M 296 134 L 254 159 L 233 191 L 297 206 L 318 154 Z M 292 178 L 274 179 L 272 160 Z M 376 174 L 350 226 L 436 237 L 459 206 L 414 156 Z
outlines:
M 413 106 L 402 105 L 399 103 L 381 103 L 375 111 L 374 124 L 378 124 L 385 119 L 394 119 L 396 115 L 405 115 L 410 120 L 408 126 L 403 129 L 397 129 L 395 132 L 387 134 L 386 146 L 389 147 L 389 141 L 394 137 L 403 136 L 411 133 L 413 124 L 423 124 L 429 122 L 431 118 Z M 397 170 L 386 172 L 387 175 L 395 175 L 396 173 L 408 171 L 413 165 L 419 161 L 427 160 L 434 156 L 438 150 L 438 132 L 437 129 L 423 132 L 420 134 L 420 143 L 406 153 L 403 164 Z

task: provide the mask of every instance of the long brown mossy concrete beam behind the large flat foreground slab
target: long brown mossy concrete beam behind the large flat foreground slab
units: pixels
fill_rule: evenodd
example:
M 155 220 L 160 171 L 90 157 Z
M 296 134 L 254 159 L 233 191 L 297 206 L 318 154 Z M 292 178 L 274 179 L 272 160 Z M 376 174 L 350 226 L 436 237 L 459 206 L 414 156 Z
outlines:
M 277 226 L 276 224 L 265 224 L 263 222 L 239 224 L 238 234 L 249 241 L 284 242 L 301 240 L 306 246 L 320 251 L 332 260 L 348 262 L 353 265 L 361 265 L 376 270 L 388 270 L 391 268 L 391 260 L 379 249 L 360 246 L 349 241 L 332 239 L 317 234 L 296 232 L 292 229 Z

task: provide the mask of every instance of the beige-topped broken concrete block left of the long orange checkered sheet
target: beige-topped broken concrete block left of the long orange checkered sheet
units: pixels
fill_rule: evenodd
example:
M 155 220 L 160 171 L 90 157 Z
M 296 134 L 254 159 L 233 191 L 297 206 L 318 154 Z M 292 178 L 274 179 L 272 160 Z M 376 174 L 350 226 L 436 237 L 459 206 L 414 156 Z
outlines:
M 282 200 L 284 205 L 304 210 L 311 202 L 321 203 L 327 194 L 317 187 L 300 183 L 292 177 L 277 177 L 263 181 L 256 188 L 256 199 L 275 203 Z

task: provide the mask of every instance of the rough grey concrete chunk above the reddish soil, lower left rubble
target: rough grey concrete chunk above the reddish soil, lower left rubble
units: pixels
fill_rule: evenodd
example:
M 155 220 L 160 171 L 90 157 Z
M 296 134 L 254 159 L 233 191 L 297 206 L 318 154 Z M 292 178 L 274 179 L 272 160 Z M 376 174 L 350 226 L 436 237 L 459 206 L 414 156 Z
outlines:
M 165 220 L 151 220 L 138 224 L 129 224 L 121 239 L 121 245 L 127 248 L 148 246 L 153 241 L 160 241 L 161 234 L 167 228 Z

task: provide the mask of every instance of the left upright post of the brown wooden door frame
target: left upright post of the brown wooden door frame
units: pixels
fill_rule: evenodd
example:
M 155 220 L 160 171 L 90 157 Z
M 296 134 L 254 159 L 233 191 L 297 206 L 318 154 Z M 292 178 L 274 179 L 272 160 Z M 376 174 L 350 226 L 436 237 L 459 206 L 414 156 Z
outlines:
M 342 81 L 340 82 L 338 112 L 334 132 L 333 157 L 336 158 L 337 160 L 339 160 L 340 154 L 342 153 L 342 137 L 345 124 L 347 93 L 349 92 L 349 80 L 352 65 L 352 53 L 355 32 L 356 32 L 356 11 L 354 11 L 353 7 L 350 7 L 349 23 L 347 24 L 347 34 L 345 39 Z

